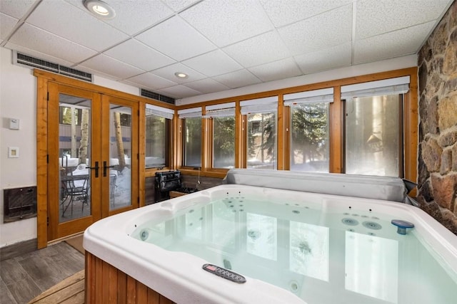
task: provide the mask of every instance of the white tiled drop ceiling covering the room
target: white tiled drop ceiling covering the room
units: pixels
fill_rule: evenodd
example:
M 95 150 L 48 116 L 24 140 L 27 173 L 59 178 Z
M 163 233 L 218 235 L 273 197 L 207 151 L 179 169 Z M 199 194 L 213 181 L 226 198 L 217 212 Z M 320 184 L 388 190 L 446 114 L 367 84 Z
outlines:
M 104 1 L 114 19 L 82 0 L 0 0 L 0 46 L 189 98 L 415 54 L 453 2 Z

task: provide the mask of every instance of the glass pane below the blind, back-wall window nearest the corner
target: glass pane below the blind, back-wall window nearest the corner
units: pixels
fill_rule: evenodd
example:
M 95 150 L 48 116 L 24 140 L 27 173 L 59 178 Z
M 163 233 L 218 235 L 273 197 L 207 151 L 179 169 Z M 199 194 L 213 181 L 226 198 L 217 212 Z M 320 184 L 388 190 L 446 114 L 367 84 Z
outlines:
M 183 165 L 201 167 L 201 117 L 185 118 L 183 126 Z

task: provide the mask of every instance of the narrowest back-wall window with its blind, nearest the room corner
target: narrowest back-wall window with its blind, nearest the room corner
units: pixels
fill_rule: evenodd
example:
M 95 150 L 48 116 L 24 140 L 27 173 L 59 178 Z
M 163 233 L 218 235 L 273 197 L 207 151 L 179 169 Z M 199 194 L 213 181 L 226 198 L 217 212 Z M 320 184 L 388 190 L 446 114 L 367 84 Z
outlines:
M 201 167 L 201 108 L 178 111 L 182 123 L 184 167 Z

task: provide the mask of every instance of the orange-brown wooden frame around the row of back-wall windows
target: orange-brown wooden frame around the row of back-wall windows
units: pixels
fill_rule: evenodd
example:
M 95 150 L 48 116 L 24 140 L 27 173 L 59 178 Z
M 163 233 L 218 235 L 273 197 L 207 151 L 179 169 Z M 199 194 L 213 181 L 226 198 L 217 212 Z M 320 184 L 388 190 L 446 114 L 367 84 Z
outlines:
M 291 113 L 288 107 L 283 106 L 283 95 L 290 93 L 298 93 L 307 90 L 318 90 L 322 88 L 333 88 L 333 103 L 329 105 L 328 115 L 328 170 L 330 173 L 344 173 L 344 102 L 341 100 L 341 86 L 352 85 L 356 83 L 365 83 L 373 80 L 383 80 L 389 78 L 398 78 L 401 76 L 410 76 L 409 91 L 405 94 L 403 100 L 403 172 L 404 177 L 413 182 L 417 180 L 417 145 L 418 145 L 418 95 L 417 95 L 417 67 L 403 68 L 401 70 L 391 70 L 381 73 L 373 73 L 368 75 L 359 75 L 350 78 L 342 78 L 337 80 L 329 80 L 321 83 L 313 83 L 308 85 L 300 85 L 293 88 L 283 88 L 271 90 L 262 93 L 253 93 L 248 95 L 240 95 L 231 98 L 223 98 L 219 100 L 210 100 L 202 103 L 194 103 L 191 105 L 183 105 L 177 107 L 177 110 L 185 108 L 194 108 L 201 106 L 203 109 L 207 105 L 220 103 L 228 103 L 236 100 L 236 130 L 235 130 L 235 167 L 246 168 L 246 140 L 247 140 L 247 121 L 246 115 L 241 115 L 240 100 L 250 100 L 256 98 L 278 96 L 278 112 L 277 112 L 277 169 L 288 170 L 290 168 L 290 132 L 289 125 L 291 121 Z M 204 115 L 204 112 L 203 112 Z M 180 134 L 180 122 L 176 124 L 176 134 Z M 209 119 L 204 118 L 202 123 L 202 168 L 201 176 L 204 177 L 219 177 L 223 178 L 228 170 L 211 168 L 212 157 L 212 124 Z M 211 145 L 210 145 L 211 144 Z M 178 146 L 177 146 L 178 147 Z M 182 147 L 176 149 L 176 164 L 180 164 L 182 157 Z M 176 167 L 181 169 L 184 174 L 196 175 L 197 172 L 193 169 Z M 411 193 L 414 196 L 414 192 Z

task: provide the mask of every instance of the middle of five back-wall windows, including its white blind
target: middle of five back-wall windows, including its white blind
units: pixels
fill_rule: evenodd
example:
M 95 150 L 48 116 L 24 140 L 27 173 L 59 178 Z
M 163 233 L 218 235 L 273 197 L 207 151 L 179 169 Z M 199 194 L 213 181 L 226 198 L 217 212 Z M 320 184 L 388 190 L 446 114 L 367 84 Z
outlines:
M 278 97 L 241 101 L 247 120 L 247 168 L 276 169 Z

